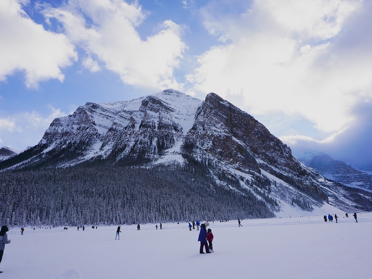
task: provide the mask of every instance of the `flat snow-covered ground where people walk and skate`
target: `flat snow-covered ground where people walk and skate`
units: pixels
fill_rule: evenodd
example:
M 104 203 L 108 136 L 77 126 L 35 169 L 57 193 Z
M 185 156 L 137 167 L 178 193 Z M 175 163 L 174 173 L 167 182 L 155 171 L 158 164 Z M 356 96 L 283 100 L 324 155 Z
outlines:
M 331 213 L 331 212 L 330 212 Z M 199 254 L 199 231 L 188 223 L 26 227 L 8 232 L 2 278 L 372 278 L 372 213 L 358 223 L 323 215 L 210 222 L 215 253 Z M 196 221 L 196 220 L 195 220 Z M 157 224 L 159 226 L 159 224 Z

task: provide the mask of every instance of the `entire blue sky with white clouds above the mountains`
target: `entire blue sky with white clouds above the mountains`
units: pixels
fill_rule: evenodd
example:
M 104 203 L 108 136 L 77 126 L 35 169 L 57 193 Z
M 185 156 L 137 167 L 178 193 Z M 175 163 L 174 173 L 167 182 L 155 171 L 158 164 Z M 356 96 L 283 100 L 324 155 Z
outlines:
M 86 102 L 214 92 L 301 157 L 372 170 L 372 12 L 362 0 L 0 1 L 0 146 Z

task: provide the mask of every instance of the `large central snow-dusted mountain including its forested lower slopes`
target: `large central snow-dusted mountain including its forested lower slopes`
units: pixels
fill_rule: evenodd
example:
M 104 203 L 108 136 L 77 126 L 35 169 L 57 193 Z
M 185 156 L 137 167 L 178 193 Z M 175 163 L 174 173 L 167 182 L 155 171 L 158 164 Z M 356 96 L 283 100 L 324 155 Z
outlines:
M 1 161 L 0 170 L 7 224 L 263 218 L 324 203 L 372 210 L 371 193 L 304 166 L 214 93 L 199 100 L 167 89 L 86 103 L 54 119 L 37 145 Z

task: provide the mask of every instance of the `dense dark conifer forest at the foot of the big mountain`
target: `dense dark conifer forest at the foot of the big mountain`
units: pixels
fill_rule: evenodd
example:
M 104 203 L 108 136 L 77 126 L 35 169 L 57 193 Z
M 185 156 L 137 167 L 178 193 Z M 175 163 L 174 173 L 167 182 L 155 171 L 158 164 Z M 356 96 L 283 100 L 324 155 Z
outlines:
M 2 172 L 0 181 L 1 224 L 107 225 L 274 217 L 250 190 L 240 187 L 237 193 L 238 181 L 234 190 L 218 185 L 203 164 L 150 169 L 78 165 Z

